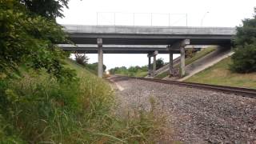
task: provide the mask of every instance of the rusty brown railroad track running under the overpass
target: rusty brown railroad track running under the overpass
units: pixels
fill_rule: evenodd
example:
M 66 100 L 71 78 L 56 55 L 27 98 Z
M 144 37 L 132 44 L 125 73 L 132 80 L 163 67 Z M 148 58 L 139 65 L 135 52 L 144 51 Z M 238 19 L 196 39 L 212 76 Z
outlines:
M 187 87 L 193 87 L 193 88 L 198 88 L 203 90 L 214 90 L 214 91 L 219 91 L 227 94 L 238 94 L 243 97 L 256 98 L 256 90 L 242 88 L 242 87 L 217 86 L 217 85 L 209 85 L 209 84 L 194 83 L 194 82 L 177 82 L 177 81 L 169 81 L 169 80 L 153 79 L 153 78 L 137 78 L 137 77 L 126 77 L 126 76 L 118 76 L 118 77 L 134 78 L 134 79 L 140 79 L 140 80 L 149 81 L 149 82 L 158 82 L 158 83 L 165 83 L 165 84 L 172 84 L 172 85 L 179 85 L 179 86 L 187 86 Z

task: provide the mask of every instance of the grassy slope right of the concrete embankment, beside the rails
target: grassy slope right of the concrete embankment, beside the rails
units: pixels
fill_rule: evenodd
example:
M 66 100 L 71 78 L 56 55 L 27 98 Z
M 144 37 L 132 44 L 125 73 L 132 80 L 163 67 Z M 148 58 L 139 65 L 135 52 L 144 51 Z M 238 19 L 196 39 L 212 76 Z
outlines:
M 230 58 L 188 78 L 186 82 L 199 82 L 222 86 L 239 86 L 256 89 L 256 73 L 236 74 L 229 70 Z

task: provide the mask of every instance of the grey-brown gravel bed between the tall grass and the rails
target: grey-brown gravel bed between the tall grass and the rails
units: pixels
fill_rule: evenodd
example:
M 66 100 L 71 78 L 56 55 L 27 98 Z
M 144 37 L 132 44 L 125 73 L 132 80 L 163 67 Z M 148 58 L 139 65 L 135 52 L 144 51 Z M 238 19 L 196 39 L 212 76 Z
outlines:
M 123 90 L 116 90 L 121 109 L 143 106 L 167 115 L 172 131 L 169 142 L 256 144 L 256 99 L 210 90 L 157 82 L 111 77 Z M 163 143 L 169 143 L 163 142 Z

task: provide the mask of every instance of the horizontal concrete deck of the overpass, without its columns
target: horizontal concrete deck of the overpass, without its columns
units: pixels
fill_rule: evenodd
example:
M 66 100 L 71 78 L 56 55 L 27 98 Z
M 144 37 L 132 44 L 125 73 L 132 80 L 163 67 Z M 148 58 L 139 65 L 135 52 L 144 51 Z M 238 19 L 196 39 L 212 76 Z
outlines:
M 75 44 L 97 44 L 97 38 L 102 38 L 103 50 L 109 53 L 131 54 L 148 53 L 150 50 L 167 53 L 165 49 L 167 45 L 172 45 L 183 39 L 190 39 L 190 45 L 230 45 L 231 38 L 236 33 L 235 28 L 232 27 L 62 26 Z M 104 48 L 104 45 L 116 46 Z M 163 45 L 164 48 L 154 47 L 149 50 L 148 47 L 142 45 Z M 66 47 L 64 50 L 97 52 L 97 49 L 90 46 Z

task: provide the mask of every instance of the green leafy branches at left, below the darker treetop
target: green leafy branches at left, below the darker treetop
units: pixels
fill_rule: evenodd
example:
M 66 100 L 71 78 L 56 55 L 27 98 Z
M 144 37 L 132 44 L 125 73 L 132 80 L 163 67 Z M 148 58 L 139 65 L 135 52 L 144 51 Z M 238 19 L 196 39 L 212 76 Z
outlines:
M 26 65 L 60 79 L 74 76 L 62 66 L 66 54 L 55 43 L 67 42 L 66 34 L 54 20 L 30 16 L 17 1 L 0 1 L 0 27 L 0 75 L 13 76 L 18 66 Z

